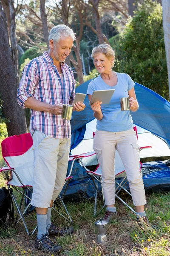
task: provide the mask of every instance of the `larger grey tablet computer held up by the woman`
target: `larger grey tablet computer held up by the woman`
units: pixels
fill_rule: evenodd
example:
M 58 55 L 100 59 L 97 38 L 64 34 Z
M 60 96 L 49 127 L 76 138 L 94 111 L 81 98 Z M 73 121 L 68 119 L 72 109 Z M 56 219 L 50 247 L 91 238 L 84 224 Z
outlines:
M 91 101 L 89 102 L 89 105 L 92 105 L 96 101 L 102 102 L 102 104 L 108 104 L 111 100 L 114 91 L 115 89 L 94 91 L 91 97 Z

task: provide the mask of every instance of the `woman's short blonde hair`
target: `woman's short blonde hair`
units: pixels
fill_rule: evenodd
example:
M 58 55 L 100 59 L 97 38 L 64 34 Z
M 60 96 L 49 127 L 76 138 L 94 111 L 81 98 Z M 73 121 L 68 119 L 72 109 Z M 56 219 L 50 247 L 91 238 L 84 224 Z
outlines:
M 113 59 L 111 67 L 114 67 L 115 52 L 109 44 L 100 44 L 99 46 L 94 47 L 91 53 L 91 57 L 94 58 L 99 53 L 104 54 L 108 59 Z

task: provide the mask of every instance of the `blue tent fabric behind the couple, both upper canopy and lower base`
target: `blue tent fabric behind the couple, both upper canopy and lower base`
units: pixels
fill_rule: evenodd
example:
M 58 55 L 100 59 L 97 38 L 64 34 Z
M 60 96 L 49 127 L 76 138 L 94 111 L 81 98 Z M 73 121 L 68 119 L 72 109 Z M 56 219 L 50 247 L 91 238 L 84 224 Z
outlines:
M 86 81 L 77 87 L 76 92 L 86 94 L 90 81 Z M 131 112 L 134 124 L 163 138 L 170 148 L 170 102 L 147 87 L 138 83 L 135 84 L 136 98 L 140 107 L 137 112 Z M 83 140 L 86 124 L 94 119 L 88 96 L 85 97 L 84 103 L 86 105 L 85 110 L 81 112 L 74 111 L 71 119 L 71 149 L 75 148 Z M 70 166 L 71 163 L 68 164 L 68 172 Z M 143 168 L 145 190 L 158 190 L 160 188 L 170 190 L 170 160 L 162 163 L 146 163 Z M 65 199 L 81 196 L 85 198 L 94 197 L 95 189 L 93 183 L 79 163 L 76 163 L 72 175 L 73 178 L 67 189 Z M 129 189 L 128 183 L 126 188 Z

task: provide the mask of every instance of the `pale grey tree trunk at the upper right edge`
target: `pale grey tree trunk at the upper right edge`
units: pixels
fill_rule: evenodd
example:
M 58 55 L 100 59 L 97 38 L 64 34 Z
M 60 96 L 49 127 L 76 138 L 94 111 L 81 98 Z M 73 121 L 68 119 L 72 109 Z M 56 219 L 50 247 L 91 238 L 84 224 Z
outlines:
M 167 72 L 170 97 L 170 0 L 162 0 L 164 44 L 167 59 Z M 170 98 L 169 98 L 170 100 Z

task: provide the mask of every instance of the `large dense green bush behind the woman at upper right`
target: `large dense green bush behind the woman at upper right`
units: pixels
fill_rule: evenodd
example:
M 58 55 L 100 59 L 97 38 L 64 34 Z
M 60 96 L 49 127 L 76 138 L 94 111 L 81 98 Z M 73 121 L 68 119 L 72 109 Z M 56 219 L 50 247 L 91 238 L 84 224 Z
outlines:
M 118 72 L 168 99 L 168 76 L 164 48 L 162 8 L 152 0 L 144 0 L 124 31 L 111 38 L 116 51 Z

